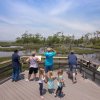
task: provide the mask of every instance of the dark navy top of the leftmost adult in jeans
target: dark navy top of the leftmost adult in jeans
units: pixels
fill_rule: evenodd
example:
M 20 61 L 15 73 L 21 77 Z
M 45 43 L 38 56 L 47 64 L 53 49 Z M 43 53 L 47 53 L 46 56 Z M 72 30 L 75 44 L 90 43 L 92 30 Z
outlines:
M 20 56 L 17 53 L 12 54 L 12 67 L 20 66 Z

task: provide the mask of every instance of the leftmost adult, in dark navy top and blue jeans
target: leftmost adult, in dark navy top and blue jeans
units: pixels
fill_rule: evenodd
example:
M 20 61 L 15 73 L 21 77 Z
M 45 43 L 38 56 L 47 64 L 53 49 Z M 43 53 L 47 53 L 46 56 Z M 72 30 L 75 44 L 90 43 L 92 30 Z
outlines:
M 12 54 L 12 81 L 18 81 L 19 80 L 19 73 L 20 73 L 20 56 L 18 55 L 18 50 L 15 50 Z

